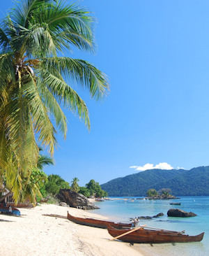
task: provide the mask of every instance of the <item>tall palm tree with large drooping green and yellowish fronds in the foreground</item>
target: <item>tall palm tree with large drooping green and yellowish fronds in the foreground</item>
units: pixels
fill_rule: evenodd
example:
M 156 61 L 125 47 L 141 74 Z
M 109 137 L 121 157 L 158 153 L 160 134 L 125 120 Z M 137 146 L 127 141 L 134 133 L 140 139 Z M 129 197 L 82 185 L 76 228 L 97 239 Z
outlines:
M 93 64 L 61 57 L 72 46 L 93 51 L 92 25 L 88 11 L 61 0 L 22 0 L 1 22 L 0 173 L 6 171 L 16 200 L 22 178 L 37 166 L 38 143 L 53 155 L 56 129 L 66 136 L 61 107 L 90 128 L 86 104 L 72 85 L 87 87 L 94 99 L 109 90 Z

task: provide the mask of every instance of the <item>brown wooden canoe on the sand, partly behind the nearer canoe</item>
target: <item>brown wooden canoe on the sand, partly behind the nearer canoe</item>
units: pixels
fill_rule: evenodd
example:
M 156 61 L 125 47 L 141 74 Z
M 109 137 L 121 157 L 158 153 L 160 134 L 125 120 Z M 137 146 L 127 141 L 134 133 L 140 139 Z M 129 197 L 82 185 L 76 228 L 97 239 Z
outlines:
M 98 219 L 92 219 L 92 218 L 78 218 L 75 216 L 70 215 L 68 213 L 68 220 L 71 220 L 72 222 L 75 222 L 80 225 L 90 226 L 90 227 L 99 227 L 101 229 L 107 229 L 107 225 L 111 225 L 111 227 L 115 227 L 117 229 L 122 229 L 123 227 L 131 227 L 132 222 L 129 223 L 122 223 L 122 222 L 110 222 L 107 220 L 98 220 Z

